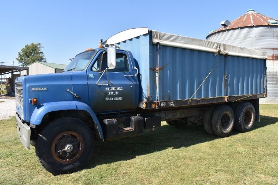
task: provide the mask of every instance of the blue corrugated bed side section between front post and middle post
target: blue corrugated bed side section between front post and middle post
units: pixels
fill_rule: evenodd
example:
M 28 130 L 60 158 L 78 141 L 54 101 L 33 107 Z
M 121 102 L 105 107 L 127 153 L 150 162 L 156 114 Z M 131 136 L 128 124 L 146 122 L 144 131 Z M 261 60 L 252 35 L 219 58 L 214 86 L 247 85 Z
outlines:
M 209 52 L 160 46 L 159 100 L 225 96 L 224 57 L 221 57 Z

